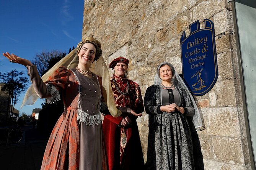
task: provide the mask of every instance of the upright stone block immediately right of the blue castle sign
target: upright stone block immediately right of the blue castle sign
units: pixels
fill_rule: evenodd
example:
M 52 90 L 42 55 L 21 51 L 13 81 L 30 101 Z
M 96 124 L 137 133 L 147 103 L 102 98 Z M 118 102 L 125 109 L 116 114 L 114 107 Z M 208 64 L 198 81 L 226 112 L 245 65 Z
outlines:
M 233 78 L 233 64 L 230 51 L 217 55 L 218 80 Z

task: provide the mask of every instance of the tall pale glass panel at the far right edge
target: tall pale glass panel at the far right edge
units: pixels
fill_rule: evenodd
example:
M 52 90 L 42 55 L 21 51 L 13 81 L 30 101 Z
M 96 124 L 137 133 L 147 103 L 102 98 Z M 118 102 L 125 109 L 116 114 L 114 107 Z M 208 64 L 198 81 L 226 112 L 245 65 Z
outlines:
M 255 0 L 236 0 L 245 96 L 254 158 L 256 157 L 256 8 Z M 248 136 L 249 137 L 249 136 Z

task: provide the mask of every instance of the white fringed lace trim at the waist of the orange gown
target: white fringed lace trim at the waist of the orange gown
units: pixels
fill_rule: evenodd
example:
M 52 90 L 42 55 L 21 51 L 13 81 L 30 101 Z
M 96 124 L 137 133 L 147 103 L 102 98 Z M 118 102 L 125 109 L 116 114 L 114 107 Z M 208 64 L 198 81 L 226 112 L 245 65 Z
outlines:
M 77 120 L 80 123 L 85 123 L 86 126 L 95 126 L 101 123 L 101 114 L 90 115 L 81 109 L 78 109 Z

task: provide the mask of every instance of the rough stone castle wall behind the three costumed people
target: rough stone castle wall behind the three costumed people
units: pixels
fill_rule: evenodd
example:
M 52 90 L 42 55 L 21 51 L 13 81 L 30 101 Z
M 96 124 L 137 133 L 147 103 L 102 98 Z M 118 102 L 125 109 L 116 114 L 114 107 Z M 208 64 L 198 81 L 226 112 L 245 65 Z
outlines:
M 198 132 L 206 170 L 250 169 L 241 101 L 238 57 L 231 0 L 85 0 L 82 38 L 99 39 L 107 64 L 130 60 L 128 78 L 142 96 L 153 84 L 158 64 L 168 61 L 182 73 L 180 37 L 189 24 L 211 19 L 219 76 L 204 96 L 196 96 L 206 129 Z M 109 70 L 113 74 L 112 70 Z M 147 114 L 137 119 L 144 159 L 147 157 Z

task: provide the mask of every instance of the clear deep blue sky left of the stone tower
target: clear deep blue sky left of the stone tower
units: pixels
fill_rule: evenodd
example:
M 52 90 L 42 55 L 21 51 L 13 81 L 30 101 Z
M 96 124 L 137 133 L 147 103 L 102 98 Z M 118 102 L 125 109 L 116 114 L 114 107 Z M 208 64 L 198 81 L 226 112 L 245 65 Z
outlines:
M 16 69 L 28 77 L 26 67 L 10 63 L 2 56 L 5 52 L 32 59 L 42 51 L 68 53 L 76 47 L 82 39 L 83 5 L 83 0 L 0 0 L 0 72 Z M 24 93 L 15 108 L 28 115 L 44 102 L 38 99 L 20 108 L 23 97 Z

